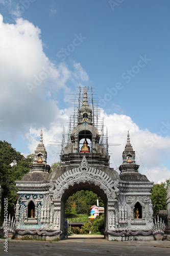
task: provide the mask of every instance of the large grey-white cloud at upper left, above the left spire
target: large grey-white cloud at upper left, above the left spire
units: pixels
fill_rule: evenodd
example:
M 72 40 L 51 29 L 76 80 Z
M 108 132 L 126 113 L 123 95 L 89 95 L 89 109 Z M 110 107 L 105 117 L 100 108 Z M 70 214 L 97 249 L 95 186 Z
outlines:
M 65 63 L 52 63 L 43 52 L 40 29 L 28 20 L 5 24 L 0 15 L 0 26 L 1 129 L 9 136 L 24 135 L 30 127 L 42 127 L 44 118 L 49 129 L 60 112 L 60 93 L 65 97 L 71 86 L 74 90 L 85 71 L 76 62 L 72 70 Z

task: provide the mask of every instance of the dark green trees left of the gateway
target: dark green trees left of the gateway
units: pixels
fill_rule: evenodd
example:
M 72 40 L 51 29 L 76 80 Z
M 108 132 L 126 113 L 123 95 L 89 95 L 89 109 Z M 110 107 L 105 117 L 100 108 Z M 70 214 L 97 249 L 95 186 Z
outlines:
M 12 216 L 14 215 L 13 204 L 16 203 L 17 199 L 15 180 L 20 180 L 24 174 L 29 172 L 31 163 L 32 155 L 25 158 L 10 143 L 0 141 L 0 184 L 4 189 L 2 205 L 4 205 L 4 198 L 8 198 L 8 212 Z M 3 216 L 4 208 L 2 207 Z

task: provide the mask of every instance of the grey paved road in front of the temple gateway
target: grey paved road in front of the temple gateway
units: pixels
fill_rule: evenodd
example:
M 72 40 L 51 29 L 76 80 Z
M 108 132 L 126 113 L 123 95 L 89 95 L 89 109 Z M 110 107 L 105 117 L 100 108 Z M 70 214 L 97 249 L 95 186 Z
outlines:
M 114 242 L 102 238 L 71 237 L 59 242 L 20 241 L 8 242 L 8 252 L 4 251 L 3 240 L 0 240 L 0 255 L 48 255 L 48 256 L 91 256 L 91 255 L 154 255 L 170 254 L 170 241 L 127 241 Z

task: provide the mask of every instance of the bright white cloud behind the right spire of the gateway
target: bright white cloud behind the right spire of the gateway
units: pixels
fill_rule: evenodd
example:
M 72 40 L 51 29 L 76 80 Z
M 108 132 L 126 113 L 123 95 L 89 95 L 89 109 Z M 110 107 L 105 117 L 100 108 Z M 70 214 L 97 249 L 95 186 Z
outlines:
M 104 117 L 105 125 L 108 127 L 109 143 L 121 144 L 109 147 L 111 167 L 117 168 L 122 164 L 122 153 L 129 131 L 131 144 L 136 152 L 136 163 L 140 165 L 139 172 L 155 183 L 170 178 L 170 171 L 164 165 L 169 159 L 170 137 L 140 130 L 139 126 L 126 115 L 107 115 L 104 110 L 101 110 L 101 116 Z

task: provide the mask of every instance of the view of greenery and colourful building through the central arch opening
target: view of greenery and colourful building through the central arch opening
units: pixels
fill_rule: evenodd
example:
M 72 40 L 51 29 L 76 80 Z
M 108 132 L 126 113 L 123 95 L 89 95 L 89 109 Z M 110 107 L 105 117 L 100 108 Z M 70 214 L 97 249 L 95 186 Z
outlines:
M 104 203 L 93 191 L 83 189 L 69 196 L 65 204 L 68 231 L 75 234 L 104 230 Z

